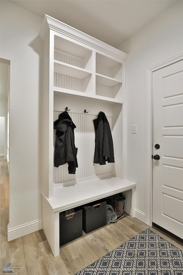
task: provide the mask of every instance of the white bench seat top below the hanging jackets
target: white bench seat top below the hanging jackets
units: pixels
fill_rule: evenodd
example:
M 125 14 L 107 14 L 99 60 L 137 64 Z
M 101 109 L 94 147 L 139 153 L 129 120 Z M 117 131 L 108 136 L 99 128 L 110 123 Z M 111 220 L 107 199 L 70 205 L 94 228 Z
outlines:
M 95 178 L 76 182 L 70 186 L 53 188 L 53 198 L 47 199 L 53 212 L 67 209 L 103 199 L 136 186 L 135 182 L 117 177 Z

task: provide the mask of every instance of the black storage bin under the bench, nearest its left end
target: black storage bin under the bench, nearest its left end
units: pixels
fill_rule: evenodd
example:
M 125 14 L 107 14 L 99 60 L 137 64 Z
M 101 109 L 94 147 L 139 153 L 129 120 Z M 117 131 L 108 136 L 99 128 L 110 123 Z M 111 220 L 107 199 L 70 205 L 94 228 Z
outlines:
M 71 211 L 72 212 L 72 211 Z M 71 217 L 71 218 L 69 218 Z M 83 235 L 82 231 L 82 209 L 74 209 L 74 215 L 59 215 L 60 246 L 69 243 Z

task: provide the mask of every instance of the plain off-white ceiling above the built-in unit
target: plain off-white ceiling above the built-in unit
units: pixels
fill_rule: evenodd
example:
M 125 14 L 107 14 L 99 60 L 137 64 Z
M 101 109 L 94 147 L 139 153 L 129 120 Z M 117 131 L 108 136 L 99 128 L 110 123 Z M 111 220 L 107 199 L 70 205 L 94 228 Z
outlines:
M 118 47 L 175 0 L 9 0 Z

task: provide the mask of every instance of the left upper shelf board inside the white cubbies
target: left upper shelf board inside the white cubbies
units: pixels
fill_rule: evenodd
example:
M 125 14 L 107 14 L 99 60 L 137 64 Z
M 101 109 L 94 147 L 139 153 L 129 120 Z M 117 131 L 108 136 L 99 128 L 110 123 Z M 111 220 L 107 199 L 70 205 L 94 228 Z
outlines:
M 91 71 L 67 63 L 63 63 L 57 60 L 54 60 L 54 72 L 57 72 L 59 74 L 65 74 L 68 76 L 73 76 L 79 79 L 84 79 L 90 74 L 92 74 Z

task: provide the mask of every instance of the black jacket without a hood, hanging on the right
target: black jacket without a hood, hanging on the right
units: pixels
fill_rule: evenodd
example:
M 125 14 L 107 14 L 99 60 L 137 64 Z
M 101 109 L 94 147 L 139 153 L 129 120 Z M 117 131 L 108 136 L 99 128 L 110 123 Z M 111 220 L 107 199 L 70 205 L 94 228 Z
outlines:
M 112 134 L 106 115 L 100 112 L 97 119 L 94 119 L 95 128 L 95 154 L 94 163 L 100 165 L 107 162 L 114 162 L 114 148 Z

